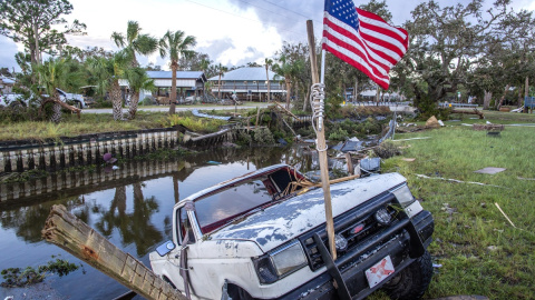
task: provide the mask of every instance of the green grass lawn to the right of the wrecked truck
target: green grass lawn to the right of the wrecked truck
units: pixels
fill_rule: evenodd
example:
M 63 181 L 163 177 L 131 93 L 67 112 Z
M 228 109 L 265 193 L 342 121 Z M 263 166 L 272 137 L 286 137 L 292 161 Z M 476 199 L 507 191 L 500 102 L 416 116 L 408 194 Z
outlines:
M 486 116 L 493 123 L 535 122 L 533 114 Z M 410 146 L 402 157 L 416 161 L 396 157 L 383 166 L 383 171 L 407 177 L 415 197 L 435 218 L 435 241 L 429 251 L 442 268 L 436 269 L 427 298 L 481 294 L 490 299 L 535 299 L 535 181 L 518 179 L 535 178 L 534 134 L 534 128 L 506 127 L 500 137 L 494 138 L 470 127 L 454 126 L 396 136 L 430 137 L 398 142 Z M 485 167 L 507 170 L 497 174 L 474 173 Z M 422 179 L 416 174 L 499 187 Z M 495 203 L 517 228 L 508 223 Z

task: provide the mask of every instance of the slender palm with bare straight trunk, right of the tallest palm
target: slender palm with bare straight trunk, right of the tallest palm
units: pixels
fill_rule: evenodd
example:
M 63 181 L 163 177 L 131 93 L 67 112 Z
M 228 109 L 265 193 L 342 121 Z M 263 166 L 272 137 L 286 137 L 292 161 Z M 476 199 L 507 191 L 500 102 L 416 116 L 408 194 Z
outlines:
M 165 58 L 168 54 L 171 59 L 172 81 L 169 114 L 175 113 L 176 70 L 178 69 L 178 59 L 181 56 L 192 56 L 194 52 L 188 49 L 196 44 L 195 37 L 185 37 L 185 34 L 186 33 L 181 30 L 177 30 L 175 32 L 167 31 L 159 40 L 159 54 L 162 56 L 162 58 Z

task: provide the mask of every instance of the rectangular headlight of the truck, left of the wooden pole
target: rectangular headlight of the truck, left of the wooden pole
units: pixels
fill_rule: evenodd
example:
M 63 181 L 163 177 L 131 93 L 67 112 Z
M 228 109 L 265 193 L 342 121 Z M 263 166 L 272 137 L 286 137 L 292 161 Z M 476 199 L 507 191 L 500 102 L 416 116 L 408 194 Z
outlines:
M 276 280 L 307 266 L 307 257 L 299 241 L 290 242 L 269 253 L 253 259 L 261 283 Z

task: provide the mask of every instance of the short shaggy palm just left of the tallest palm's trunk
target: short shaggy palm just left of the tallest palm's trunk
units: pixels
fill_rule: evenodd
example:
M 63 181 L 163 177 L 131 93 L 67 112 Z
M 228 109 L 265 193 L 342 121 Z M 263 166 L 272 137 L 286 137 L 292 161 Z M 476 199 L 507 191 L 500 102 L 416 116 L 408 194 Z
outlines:
M 114 109 L 114 120 L 123 120 L 123 98 L 119 80 L 125 78 L 130 57 L 125 51 L 111 58 L 96 58 L 88 61 L 89 72 L 94 77 L 97 92 L 103 97 L 109 93 Z

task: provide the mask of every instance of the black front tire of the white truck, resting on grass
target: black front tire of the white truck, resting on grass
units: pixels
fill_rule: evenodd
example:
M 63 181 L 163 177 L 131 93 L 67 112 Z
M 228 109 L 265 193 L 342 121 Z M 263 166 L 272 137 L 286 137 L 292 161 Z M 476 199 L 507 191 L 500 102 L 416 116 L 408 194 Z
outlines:
M 432 277 L 431 254 L 426 250 L 401 272 L 390 279 L 382 289 L 390 299 L 420 299 L 429 287 Z

